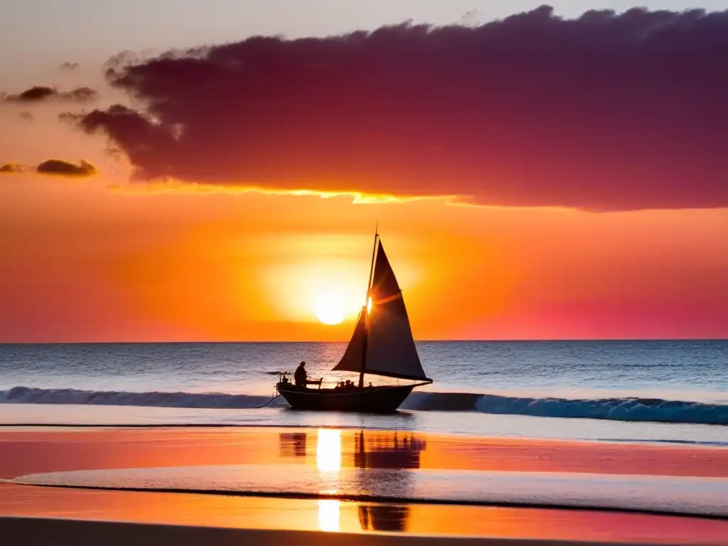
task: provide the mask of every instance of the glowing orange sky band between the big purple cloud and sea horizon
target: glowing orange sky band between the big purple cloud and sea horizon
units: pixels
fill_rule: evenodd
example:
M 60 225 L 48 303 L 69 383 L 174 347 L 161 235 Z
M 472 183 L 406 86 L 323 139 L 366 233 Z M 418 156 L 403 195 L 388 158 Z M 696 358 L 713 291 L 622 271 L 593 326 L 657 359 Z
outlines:
M 416 339 L 728 335 L 728 211 L 153 194 L 0 178 L 0 341 L 347 339 L 373 224 Z M 316 298 L 344 299 L 321 324 Z

